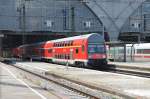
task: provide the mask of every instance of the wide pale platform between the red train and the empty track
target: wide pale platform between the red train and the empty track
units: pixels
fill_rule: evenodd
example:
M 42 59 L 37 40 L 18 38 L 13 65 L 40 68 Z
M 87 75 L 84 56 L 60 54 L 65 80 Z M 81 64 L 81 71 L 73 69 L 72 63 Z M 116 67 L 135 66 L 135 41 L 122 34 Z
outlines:
M 113 94 L 124 94 L 136 99 L 150 99 L 149 78 L 41 62 L 16 62 L 14 65 L 32 72 L 62 76 L 72 81 L 109 90 Z

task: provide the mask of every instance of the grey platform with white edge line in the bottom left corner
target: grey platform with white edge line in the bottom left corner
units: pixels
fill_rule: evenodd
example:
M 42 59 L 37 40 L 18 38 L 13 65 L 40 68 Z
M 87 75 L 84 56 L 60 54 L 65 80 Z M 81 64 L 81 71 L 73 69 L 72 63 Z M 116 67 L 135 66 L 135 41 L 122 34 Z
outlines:
M 16 72 L 0 63 L 0 99 L 58 99 L 46 90 L 19 78 Z

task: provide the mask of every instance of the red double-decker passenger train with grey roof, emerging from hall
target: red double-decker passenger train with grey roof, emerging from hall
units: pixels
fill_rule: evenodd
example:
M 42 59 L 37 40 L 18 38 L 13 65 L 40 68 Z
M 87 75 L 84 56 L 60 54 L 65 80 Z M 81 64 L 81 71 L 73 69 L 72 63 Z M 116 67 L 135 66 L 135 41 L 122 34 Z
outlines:
M 13 54 L 75 66 L 107 64 L 104 38 L 97 33 L 26 44 L 15 48 Z

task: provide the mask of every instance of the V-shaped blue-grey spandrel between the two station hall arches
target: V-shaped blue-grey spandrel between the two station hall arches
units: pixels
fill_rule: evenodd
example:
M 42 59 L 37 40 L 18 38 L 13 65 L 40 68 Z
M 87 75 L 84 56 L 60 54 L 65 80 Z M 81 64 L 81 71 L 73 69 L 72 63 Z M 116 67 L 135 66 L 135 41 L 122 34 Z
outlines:
M 146 0 L 86 0 L 85 4 L 103 23 L 110 40 L 116 41 L 120 29 L 144 1 Z

